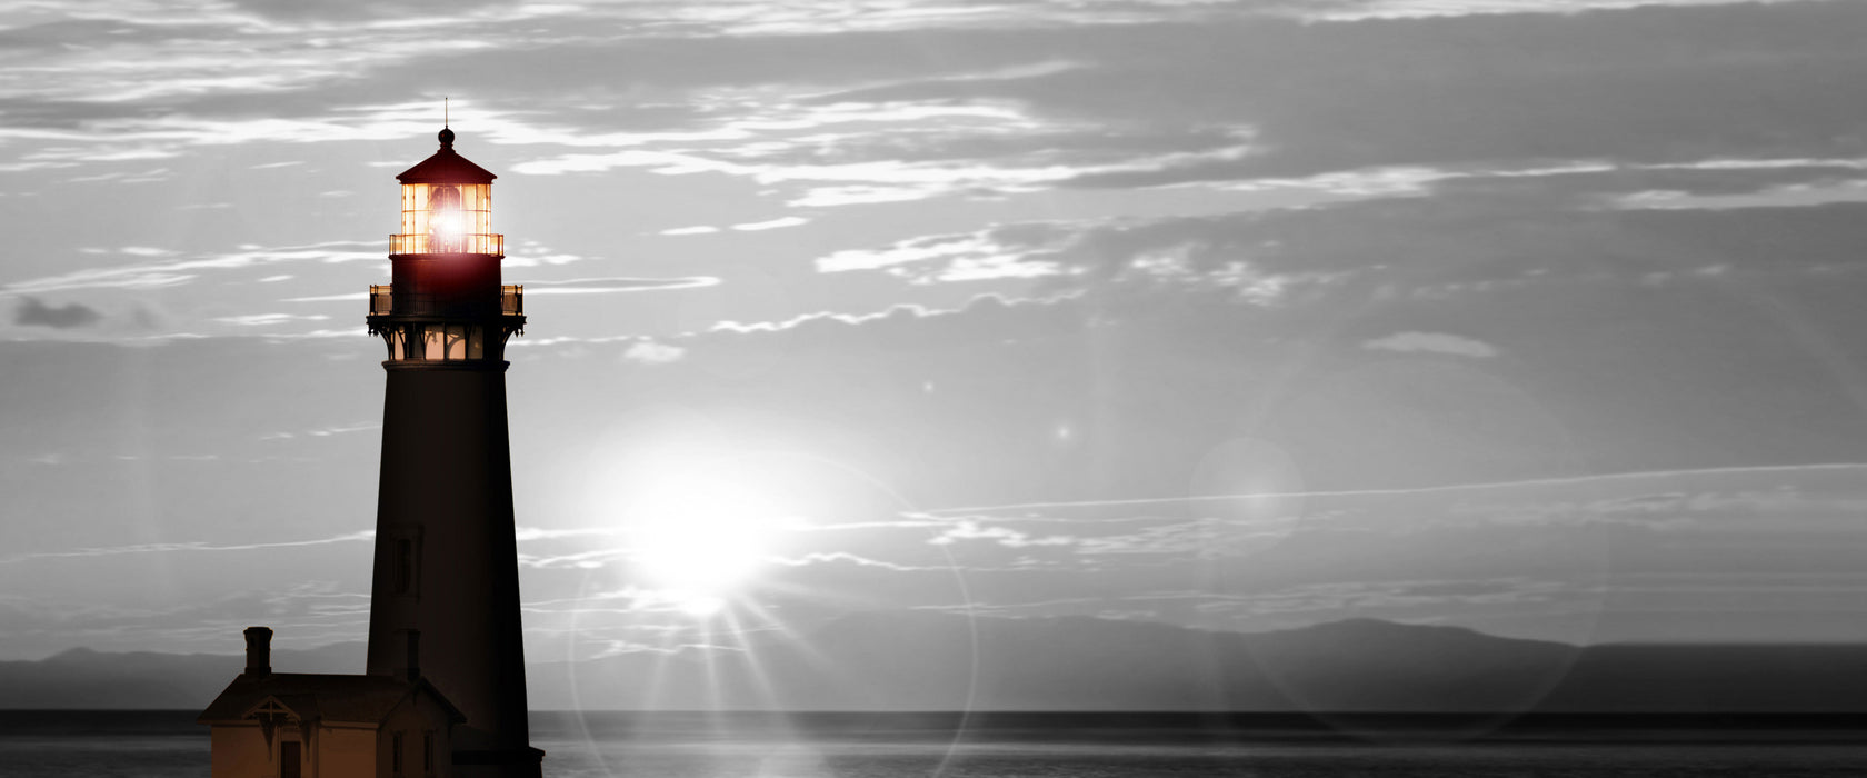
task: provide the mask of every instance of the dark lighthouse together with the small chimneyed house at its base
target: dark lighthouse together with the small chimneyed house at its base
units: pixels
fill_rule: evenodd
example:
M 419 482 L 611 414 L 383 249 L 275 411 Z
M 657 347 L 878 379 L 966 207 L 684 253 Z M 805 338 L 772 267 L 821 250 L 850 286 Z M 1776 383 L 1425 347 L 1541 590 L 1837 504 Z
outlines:
M 368 315 L 388 345 L 388 375 L 366 675 L 256 674 L 248 655 L 248 670 L 202 713 L 215 726 L 215 778 L 540 776 L 506 437 L 506 338 L 523 332 L 525 310 L 523 289 L 500 284 L 493 177 L 454 151 L 450 129 L 433 157 L 396 177 L 401 231 Z M 420 664 L 414 636 L 426 642 Z M 332 711 L 379 718 L 366 726 Z M 317 724 L 338 720 L 344 737 Z M 284 724 L 302 737 L 274 737 Z M 351 767 L 317 771 L 325 752 L 314 739 L 362 748 L 362 731 L 375 733 L 375 772 L 349 757 Z

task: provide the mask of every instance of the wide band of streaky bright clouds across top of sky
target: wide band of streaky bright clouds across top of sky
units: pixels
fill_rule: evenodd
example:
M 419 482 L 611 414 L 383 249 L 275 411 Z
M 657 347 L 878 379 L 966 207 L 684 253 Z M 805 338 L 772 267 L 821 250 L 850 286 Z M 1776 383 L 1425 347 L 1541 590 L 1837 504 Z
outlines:
M 388 21 L 342 4 L 316 19 L 256 11 L 260 24 L 207 9 L 164 24 L 19 28 L 45 52 L 45 86 L 0 108 L 19 118 L 13 136 L 35 144 L 21 162 L 101 162 L 409 136 L 428 129 L 433 106 L 411 103 L 407 84 L 457 78 L 482 95 L 470 106 L 482 132 L 536 147 L 517 174 L 715 172 L 810 205 L 1404 166 L 1861 153 L 1850 140 L 1861 108 L 1802 88 L 1867 75 L 1854 4 L 1299 6 L 962 4 L 861 22 L 769 6 L 476 7 Z M 308 34 L 345 17 L 358 21 L 345 39 Z M 131 90 L 47 43 L 99 37 L 159 76 Z M 276 67 L 241 67 L 258 50 Z M 372 69 L 398 78 L 351 76 Z M 543 71 L 590 99 L 543 110 L 530 76 Z M 265 110 L 254 114 L 254 101 Z

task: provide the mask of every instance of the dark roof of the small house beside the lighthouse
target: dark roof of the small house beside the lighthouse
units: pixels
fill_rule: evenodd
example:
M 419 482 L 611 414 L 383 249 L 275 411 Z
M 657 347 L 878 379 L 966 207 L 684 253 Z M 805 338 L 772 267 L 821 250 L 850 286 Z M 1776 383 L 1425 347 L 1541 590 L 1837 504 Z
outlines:
M 428 679 L 325 674 L 267 674 L 258 677 L 241 674 L 194 720 L 200 724 L 237 724 L 245 722 L 267 700 L 276 700 L 301 720 L 379 724 L 414 694 L 429 694 L 456 722 L 467 720 Z

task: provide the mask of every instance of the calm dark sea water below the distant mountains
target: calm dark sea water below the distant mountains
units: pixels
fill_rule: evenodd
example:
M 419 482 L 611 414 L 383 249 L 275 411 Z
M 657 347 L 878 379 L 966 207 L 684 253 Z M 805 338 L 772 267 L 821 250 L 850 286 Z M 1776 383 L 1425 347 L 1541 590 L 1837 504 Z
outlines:
M 204 778 L 207 731 L 192 718 L 192 711 L 0 711 L 0 776 Z M 900 713 L 534 713 L 532 731 L 553 778 L 1867 774 L 1867 744 L 1833 731 L 1768 735 L 1779 743 L 1544 733 L 1430 744 L 1327 739 L 1212 716 Z

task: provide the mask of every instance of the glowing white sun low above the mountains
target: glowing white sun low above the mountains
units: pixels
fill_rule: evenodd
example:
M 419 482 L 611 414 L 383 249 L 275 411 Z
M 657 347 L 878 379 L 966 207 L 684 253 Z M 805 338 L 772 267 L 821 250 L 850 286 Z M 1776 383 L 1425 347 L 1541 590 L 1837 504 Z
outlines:
M 624 517 L 635 567 L 681 612 L 711 616 L 771 558 L 777 506 L 730 468 L 661 472 Z

